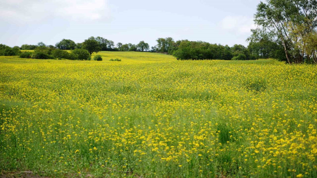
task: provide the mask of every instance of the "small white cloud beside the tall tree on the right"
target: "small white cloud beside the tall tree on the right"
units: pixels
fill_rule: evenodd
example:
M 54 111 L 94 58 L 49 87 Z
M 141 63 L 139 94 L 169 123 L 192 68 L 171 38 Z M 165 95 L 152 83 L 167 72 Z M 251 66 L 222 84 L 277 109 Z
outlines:
M 221 20 L 221 27 L 224 30 L 245 34 L 250 33 L 250 30 L 256 28 L 256 25 L 253 18 L 247 16 L 226 16 Z

